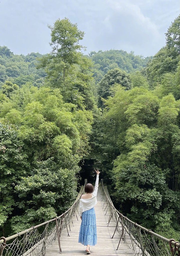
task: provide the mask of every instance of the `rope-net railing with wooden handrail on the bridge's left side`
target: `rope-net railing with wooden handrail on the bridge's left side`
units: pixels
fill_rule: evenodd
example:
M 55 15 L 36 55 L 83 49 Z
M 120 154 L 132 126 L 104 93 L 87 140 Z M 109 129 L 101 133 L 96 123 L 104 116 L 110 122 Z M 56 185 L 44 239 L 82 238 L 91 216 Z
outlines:
M 85 185 L 87 179 L 85 179 Z M 61 250 L 60 236 L 64 228 L 69 236 L 70 222 L 73 224 L 73 216 L 78 212 L 79 200 L 84 193 L 85 185 L 81 187 L 74 204 L 59 217 L 43 222 L 37 226 L 9 236 L 0 238 L 0 256 L 44 256 L 48 244 L 58 239 L 59 253 Z M 79 214 L 79 212 L 78 212 Z

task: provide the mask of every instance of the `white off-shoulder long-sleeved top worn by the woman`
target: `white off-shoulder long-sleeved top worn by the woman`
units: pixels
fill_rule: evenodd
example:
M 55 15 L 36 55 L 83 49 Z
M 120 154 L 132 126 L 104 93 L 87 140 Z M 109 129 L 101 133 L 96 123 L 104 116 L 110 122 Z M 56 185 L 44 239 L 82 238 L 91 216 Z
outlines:
M 98 186 L 99 186 L 99 174 L 96 177 L 96 183 L 94 187 L 94 191 L 92 193 L 92 197 L 88 199 L 80 199 L 79 201 L 79 215 L 82 216 L 83 211 L 87 211 L 92 209 L 97 204 L 97 193 L 98 193 Z

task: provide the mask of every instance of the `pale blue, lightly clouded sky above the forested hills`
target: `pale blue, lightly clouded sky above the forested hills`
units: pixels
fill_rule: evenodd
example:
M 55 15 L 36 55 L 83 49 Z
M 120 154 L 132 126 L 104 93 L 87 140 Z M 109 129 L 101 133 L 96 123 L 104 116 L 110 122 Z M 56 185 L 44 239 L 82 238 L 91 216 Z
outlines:
M 50 29 L 67 17 L 85 31 L 90 51 L 123 49 L 154 55 L 179 15 L 179 0 L 0 0 L 0 45 L 14 54 L 50 52 Z

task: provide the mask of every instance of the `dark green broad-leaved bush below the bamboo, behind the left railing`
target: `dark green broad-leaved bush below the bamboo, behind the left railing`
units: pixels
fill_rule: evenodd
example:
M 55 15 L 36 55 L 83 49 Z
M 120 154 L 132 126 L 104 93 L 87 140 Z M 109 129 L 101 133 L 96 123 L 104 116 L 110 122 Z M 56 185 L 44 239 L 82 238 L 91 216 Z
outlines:
M 32 175 L 22 177 L 15 187 L 20 198 L 19 207 L 24 214 L 12 217 L 13 231 L 18 232 L 34 223 L 59 216 L 73 204 L 76 186 L 73 170 L 62 169 L 53 158 L 37 162 Z

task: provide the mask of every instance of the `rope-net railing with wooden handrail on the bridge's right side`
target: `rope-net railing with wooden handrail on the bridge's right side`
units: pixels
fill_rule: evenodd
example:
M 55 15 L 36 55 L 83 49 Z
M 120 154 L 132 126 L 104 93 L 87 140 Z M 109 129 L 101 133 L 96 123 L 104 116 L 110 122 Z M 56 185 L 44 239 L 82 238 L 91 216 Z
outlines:
M 103 179 L 101 180 L 101 184 L 102 200 L 105 199 L 103 205 L 103 207 L 105 207 L 104 211 L 107 213 L 107 210 L 110 210 L 108 226 L 111 219 L 113 219 L 116 222 L 114 234 L 117 230 L 121 235 L 116 250 L 118 250 L 120 242 L 124 241 L 126 245 L 133 250 L 134 255 L 180 256 L 179 242 L 176 242 L 174 239 L 167 239 L 162 237 L 159 234 L 154 233 L 152 230 L 148 230 L 125 217 L 114 207 L 108 190 L 104 187 Z M 114 234 L 112 238 L 114 237 Z

